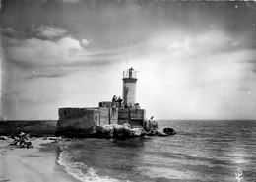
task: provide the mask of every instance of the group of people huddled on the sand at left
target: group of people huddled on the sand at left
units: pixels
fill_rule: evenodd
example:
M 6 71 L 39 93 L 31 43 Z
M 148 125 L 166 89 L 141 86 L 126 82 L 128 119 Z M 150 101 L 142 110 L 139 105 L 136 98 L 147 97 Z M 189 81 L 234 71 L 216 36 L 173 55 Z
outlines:
M 20 148 L 33 148 L 32 142 L 30 141 L 30 134 L 21 132 L 18 136 L 14 136 L 14 141 L 10 145 L 19 146 Z

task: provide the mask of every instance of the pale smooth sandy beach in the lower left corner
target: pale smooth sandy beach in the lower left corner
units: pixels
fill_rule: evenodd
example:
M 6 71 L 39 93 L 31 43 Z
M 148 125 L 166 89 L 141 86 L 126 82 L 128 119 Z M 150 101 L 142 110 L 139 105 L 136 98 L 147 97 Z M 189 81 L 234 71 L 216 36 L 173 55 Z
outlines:
M 0 141 L 0 182 L 78 182 L 58 164 L 54 141 L 34 138 L 33 149 L 9 146 L 11 141 Z

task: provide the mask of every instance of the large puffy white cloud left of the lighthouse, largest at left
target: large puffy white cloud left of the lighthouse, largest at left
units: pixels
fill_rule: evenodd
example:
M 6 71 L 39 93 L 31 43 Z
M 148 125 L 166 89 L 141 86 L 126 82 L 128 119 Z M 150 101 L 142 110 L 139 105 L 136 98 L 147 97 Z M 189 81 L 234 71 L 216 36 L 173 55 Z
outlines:
M 20 40 L 16 45 L 8 47 L 6 52 L 10 60 L 45 66 L 77 60 L 81 51 L 84 51 L 84 48 L 78 40 L 64 37 L 58 41 L 37 38 Z

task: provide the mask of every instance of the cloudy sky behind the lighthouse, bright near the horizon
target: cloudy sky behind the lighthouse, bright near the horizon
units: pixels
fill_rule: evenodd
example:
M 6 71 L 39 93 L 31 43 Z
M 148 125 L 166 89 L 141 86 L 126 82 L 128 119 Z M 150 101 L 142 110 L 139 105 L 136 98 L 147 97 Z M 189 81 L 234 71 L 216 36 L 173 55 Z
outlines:
M 256 2 L 2 0 L 1 118 L 122 96 L 155 119 L 256 119 Z

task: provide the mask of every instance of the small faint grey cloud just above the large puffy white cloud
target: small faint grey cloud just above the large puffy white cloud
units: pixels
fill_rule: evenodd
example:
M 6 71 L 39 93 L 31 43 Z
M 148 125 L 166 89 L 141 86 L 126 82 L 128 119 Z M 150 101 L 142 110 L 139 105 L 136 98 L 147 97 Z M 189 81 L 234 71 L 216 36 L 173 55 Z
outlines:
M 46 39 L 64 37 L 67 33 L 67 30 L 64 30 L 63 28 L 54 28 L 46 25 L 35 28 L 35 31 L 37 37 L 42 37 Z

